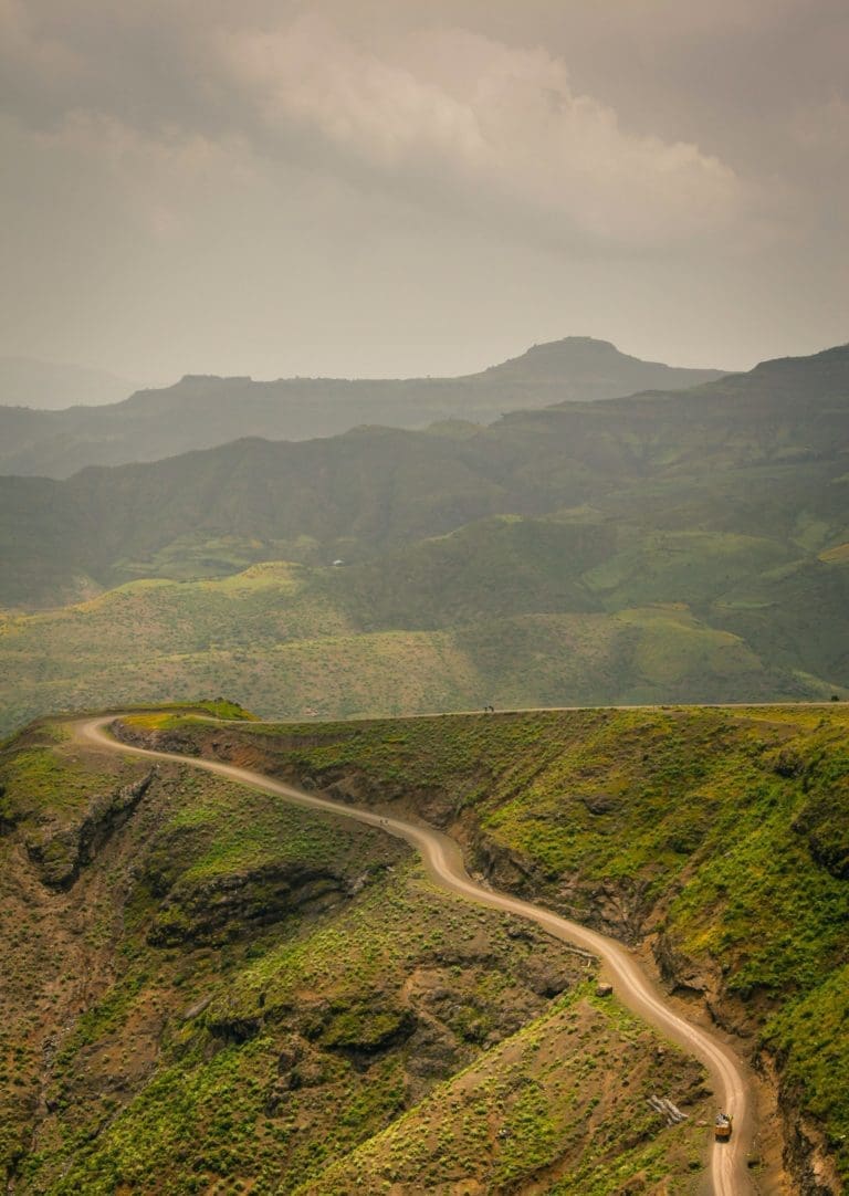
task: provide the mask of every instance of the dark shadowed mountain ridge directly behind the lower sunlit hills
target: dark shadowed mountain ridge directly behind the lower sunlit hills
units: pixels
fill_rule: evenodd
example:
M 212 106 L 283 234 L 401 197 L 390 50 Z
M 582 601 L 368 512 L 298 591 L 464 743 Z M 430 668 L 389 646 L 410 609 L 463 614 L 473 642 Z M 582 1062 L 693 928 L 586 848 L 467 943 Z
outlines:
M 243 438 L 66 481 L 2 477 L 0 543 L 12 566 L 2 600 L 45 597 L 33 568 L 111 584 L 128 575 L 121 561 L 147 560 L 155 573 L 167 545 L 221 536 L 252 543 L 248 560 L 320 562 L 342 544 L 371 557 L 489 515 L 588 504 L 643 527 L 786 539 L 808 518 L 825 544 L 844 525 L 849 539 L 847 450 L 843 346 L 695 390 L 515 411 L 459 434 L 446 425 Z M 233 568 L 244 563 L 237 554 Z

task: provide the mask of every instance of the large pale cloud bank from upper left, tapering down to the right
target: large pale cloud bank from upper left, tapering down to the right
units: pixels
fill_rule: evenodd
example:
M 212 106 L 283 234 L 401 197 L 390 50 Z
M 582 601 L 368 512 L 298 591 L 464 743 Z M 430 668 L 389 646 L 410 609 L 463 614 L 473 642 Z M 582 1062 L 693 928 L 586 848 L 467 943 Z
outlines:
M 7 100 L 36 121 L 121 122 L 147 138 L 243 138 L 313 169 L 488 219 L 653 244 L 723 230 L 734 172 L 688 141 L 622 128 L 567 63 L 452 28 L 397 33 L 380 53 L 314 14 L 240 28 L 225 10 L 6 0 Z M 232 10 L 231 10 L 232 12 Z M 100 18 L 98 20 L 98 17 Z M 202 18 L 202 19 L 201 19 Z

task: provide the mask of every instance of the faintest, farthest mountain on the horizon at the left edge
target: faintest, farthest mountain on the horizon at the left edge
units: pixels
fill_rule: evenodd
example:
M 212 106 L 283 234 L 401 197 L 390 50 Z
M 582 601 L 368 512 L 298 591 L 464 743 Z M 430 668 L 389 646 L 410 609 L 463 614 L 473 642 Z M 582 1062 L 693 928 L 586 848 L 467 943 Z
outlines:
M 90 370 L 61 361 L 0 358 L 0 404 L 44 410 L 85 404 L 99 407 L 127 398 L 138 383 L 105 370 Z

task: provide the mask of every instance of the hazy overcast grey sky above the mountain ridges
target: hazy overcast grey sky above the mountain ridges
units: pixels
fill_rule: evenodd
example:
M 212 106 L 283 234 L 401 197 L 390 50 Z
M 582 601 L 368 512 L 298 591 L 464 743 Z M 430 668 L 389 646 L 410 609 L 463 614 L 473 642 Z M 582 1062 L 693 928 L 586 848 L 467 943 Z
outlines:
M 0 354 L 462 373 L 849 340 L 847 0 L 0 0 Z

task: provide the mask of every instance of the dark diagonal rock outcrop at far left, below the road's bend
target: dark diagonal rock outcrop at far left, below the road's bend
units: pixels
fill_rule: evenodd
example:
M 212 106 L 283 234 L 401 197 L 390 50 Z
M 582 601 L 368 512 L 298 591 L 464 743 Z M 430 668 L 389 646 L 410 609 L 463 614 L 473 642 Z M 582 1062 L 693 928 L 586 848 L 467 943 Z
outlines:
M 146 776 L 114 793 L 97 794 L 85 814 L 74 822 L 47 823 L 28 834 L 26 852 L 42 883 L 49 889 L 69 889 L 80 871 L 130 817 L 155 773 L 152 768 Z

